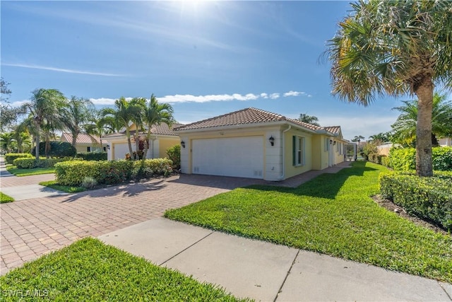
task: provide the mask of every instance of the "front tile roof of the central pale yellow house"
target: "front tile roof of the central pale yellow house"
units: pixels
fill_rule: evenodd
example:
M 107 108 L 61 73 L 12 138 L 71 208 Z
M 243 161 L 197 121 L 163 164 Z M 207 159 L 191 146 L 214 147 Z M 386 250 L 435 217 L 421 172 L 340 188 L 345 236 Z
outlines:
M 220 115 L 218 117 L 212 117 L 207 120 L 201 120 L 199 122 L 194 122 L 191 124 L 186 124 L 182 127 L 174 128 L 174 131 L 179 130 L 189 130 L 189 129 L 204 129 L 211 127 L 222 127 L 222 126 L 233 126 L 239 124 L 259 124 L 264 122 L 278 122 L 278 121 L 288 121 L 299 126 L 316 130 L 320 127 L 313 124 L 307 124 L 305 122 L 300 122 L 299 120 L 293 120 L 287 118 L 283 115 L 278 115 L 277 113 L 268 112 L 265 110 L 257 108 L 246 108 L 234 112 L 227 113 L 225 115 Z

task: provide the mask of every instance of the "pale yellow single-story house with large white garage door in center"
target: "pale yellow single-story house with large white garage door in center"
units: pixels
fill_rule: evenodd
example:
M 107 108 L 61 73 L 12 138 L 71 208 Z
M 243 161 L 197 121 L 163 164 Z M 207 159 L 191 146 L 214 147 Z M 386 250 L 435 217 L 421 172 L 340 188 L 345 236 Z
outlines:
M 345 158 L 340 127 L 319 127 L 247 108 L 174 128 L 182 173 L 285 180 Z

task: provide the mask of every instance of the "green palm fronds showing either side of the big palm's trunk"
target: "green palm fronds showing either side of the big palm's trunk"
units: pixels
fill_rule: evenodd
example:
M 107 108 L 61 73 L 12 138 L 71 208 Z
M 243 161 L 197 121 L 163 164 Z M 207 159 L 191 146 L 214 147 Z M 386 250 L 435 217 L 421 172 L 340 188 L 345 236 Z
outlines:
M 403 145 L 410 145 L 416 141 L 417 100 L 403 100 L 403 106 L 393 108 L 400 115 L 391 126 L 394 138 Z M 452 102 L 446 101 L 446 95 L 434 93 L 432 105 L 432 145 L 438 145 L 439 137 L 452 134 Z

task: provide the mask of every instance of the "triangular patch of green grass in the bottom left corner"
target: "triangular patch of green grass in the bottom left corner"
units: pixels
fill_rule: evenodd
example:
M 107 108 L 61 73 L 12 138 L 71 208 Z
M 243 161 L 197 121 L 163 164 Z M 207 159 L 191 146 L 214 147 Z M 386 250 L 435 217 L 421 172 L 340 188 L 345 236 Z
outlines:
M 239 301 L 217 286 L 93 238 L 13 269 L 0 277 L 0 284 L 1 301 L 18 301 L 14 293 L 27 290 L 50 301 Z

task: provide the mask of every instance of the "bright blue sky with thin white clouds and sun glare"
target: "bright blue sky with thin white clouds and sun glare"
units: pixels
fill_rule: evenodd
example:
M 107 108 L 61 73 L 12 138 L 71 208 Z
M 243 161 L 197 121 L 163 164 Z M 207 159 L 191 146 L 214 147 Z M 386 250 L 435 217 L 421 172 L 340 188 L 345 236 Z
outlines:
M 331 95 L 326 40 L 348 1 L 1 1 L 1 76 L 18 105 L 35 88 L 98 106 L 171 103 L 195 122 L 243 108 L 316 115 L 346 139 L 386 132 L 399 100 Z M 407 99 L 407 98 L 405 98 Z

